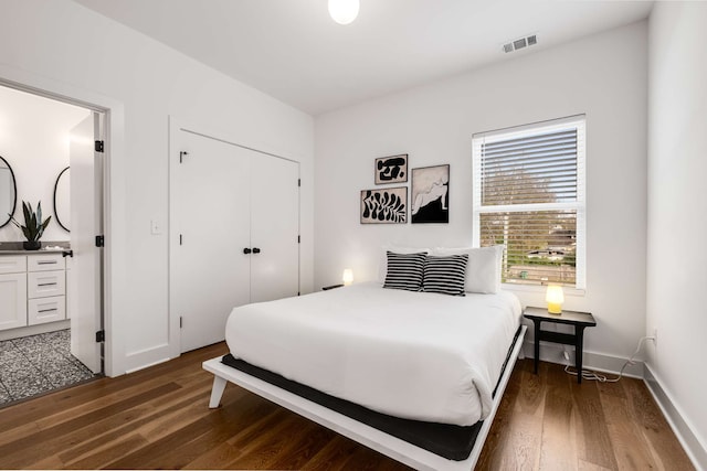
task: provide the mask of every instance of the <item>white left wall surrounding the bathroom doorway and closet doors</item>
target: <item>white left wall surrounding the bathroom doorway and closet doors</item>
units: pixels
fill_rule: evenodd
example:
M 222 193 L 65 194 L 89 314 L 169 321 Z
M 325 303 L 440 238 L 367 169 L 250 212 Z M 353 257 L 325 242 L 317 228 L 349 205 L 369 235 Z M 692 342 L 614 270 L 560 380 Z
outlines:
M 151 220 L 168 227 L 169 115 L 226 129 L 300 162 L 300 279 L 303 291 L 312 290 L 312 117 L 72 1 L 0 4 L 0 66 L 123 105 L 120 147 L 110 157 L 108 373 L 165 360 L 173 341 L 168 234 L 150 235 Z

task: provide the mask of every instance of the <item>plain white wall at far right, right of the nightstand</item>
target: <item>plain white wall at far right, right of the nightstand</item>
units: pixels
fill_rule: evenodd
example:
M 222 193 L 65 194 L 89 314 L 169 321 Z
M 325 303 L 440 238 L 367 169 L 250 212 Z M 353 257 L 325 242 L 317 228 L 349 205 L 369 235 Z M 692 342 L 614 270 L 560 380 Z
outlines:
M 658 332 L 650 376 L 672 399 L 680 416 L 673 419 L 705 469 L 706 24 L 699 2 L 658 2 L 651 14 L 646 301 L 647 332 Z

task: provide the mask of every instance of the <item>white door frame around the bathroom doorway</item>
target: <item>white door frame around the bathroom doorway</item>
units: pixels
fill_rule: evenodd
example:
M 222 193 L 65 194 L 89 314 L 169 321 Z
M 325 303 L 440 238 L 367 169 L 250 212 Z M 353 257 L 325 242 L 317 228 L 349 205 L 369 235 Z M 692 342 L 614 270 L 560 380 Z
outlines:
M 125 181 L 124 159 L 124 105 L 95 92 L 75 87 L 45 76 L 17 69 L 0 64 L 0 85 L 39 95 L 70 105 L 80 106 L 105 116 L 104 168 L 103 168 L 103 223 L 105 247 L 103 250 L 103 329 L 104 374 L 118 376 L 125 373 L 125 343 L 119 332 L 119 320 L 113 315 L 119 312 L 120 297 L 116 292 L 126 292 L 125 277 L 127 267 L 122 257 L 125 253 Z M 113 184 L 112 184 L 113 183 Z M 125 258 L 125 257 L 123 257 Z

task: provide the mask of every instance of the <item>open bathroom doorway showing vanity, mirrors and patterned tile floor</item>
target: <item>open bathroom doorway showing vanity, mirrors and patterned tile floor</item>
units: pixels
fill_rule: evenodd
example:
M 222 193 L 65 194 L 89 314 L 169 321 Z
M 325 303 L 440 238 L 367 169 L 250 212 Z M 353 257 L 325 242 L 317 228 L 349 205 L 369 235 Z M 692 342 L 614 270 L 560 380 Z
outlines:
M 96 332 L 104 266 L 96 236 L 103 234 L 105 171 L 96 141 L 106 146 L 108 111 L 2 81 L 0 103 L 13 217 L 27 225 L 27 202 L 38 216 L 41 203 L 41 220 L 50 218 L 35 251 L 23 250 L 25 235 L 11 222 L 0 227 L 0 260 L 19 264 L 6 269 L 11 280 L 0 290 L 0 311 L 15 317 L 0 329 L 2 406 L 103 374 Z

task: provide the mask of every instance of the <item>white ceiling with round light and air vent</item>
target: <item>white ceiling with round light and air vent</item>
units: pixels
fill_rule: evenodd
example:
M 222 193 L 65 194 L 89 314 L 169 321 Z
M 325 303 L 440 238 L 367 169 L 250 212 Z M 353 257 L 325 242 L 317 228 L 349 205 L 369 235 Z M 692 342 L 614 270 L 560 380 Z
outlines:
M 312 115 L 646 18 L 650 1 L 75 0 Z M 538 44 L 502 45 L 537 33 Z

